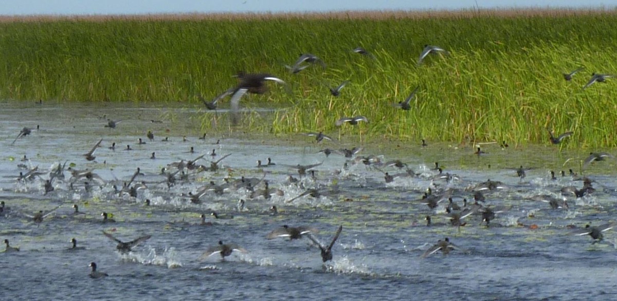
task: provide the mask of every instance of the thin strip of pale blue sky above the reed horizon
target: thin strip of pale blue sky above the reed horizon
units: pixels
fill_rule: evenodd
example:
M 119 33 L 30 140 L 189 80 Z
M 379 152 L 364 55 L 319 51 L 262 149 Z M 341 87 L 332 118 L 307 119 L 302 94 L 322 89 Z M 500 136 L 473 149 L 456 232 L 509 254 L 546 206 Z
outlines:
M 1 0 L 0 15 L 428 10 L 473 7 L 605 7 L 617 0 Z

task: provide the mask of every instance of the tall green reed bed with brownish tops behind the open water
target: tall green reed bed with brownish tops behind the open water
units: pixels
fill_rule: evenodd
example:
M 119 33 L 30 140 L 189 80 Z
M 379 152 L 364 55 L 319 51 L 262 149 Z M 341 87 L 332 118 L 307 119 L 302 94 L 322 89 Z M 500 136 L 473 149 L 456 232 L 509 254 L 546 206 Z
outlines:
M 616 22 L 617 9 L 0 16 L 0 98 L 199 105 L 238 71 L 265 72 L 291 93 L 246 95 L 242 108 L 276 110 L 245 114 L 238 130 L 549 145 L 548 128 L 574 132 L 556 148 L 607 148 L 617 78 L 582 87 L 617 74 Z M 448 53 L 418 64 L 424 44 Z M 307 52 L 327 67 L 290 73 Z M 394 106 L 416 87 L 411 110 Z M 370 123 L 334 125 L 356 115 Z M 202 130 L 213 127 L 228 130 L 226 114 L 204 113 Z

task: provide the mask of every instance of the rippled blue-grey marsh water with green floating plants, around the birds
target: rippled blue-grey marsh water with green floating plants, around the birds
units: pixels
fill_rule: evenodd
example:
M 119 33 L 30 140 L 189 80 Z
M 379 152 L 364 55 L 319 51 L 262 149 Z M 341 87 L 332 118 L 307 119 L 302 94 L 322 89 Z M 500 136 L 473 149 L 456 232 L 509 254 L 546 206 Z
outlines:
M 419 143 L 384 141 L 363 145 L 358 156 L 400 159 L 420 174 L 385 183 L 383 172 L 374 167 L 350 161 L 348 169 L 341 170 L 346 158 L 317 153 L 325 147 L 360 145 L 355 137 L 320 145 L 302 136 L 280 141 L 213 133 L 200 140 L 199 117 L 204 113 L 197 108 L 5 102 L 0 114 L 0 198 L 10 208 L 0 216 L 0 238 L 21 249 L 0 253 L 4 274 L 0 290 L 5 300 L 399 300 L 412 296 L 423 300 L 597 300 L 615 294 L 615 232 L 606 231 L 602 242 L 591 244 L 590 236 L 571 235 L 574 230 L 569 228 L 614 219 L 617 185 L 614 175 L 602 170 L 614 169 L 615 162 L 591 164 L 586 175 L 594 180 L 597 191 L 578 199 L 565 196 L 567 210 L 550 209 L 547 203 L 528 199 L 547 194 L 561 198 L 561 187 L 581 188 L 582 181 L 572 177 L 550 180 L 549 171 L 578 171 L 586 151 L 559 152 L 553 145 L 502 150 L 491 144 L 482 145 L 487 154 L 478 157 L 471 144 L 429 142 L 423 148 Z M 115 129 L 106 128 L 104 115 L 122 122 Z M 37 124 L 39 130 L 11 145 L 22 127 Z M 148 130 L 155 135 L 153 141 L 146 138 Z M 161 142 L 164 137 L 169 141 Z M 94 153 L 96 159 L 86 161 L 83 154 L 100 138 L 103 142 Z M 138 138 L 147 144 L 137 145 Z M 217 140 L 220 143 L 213 144 Z M 109 149 L 112 142 L 117 143 L 115 151 Z M 132 151 L 123 150 L 127 144 Z M 191 146 L 195 153 L 188 153 Z M 212 149 L 218 154 L 214 158 L 209 155 Z M 156 159 L 150 159 L 153 151 Z M 218 171 L 189 172 L 188 180 L 178 179 L 168 187 L 160 175 L 163 167 L 202 154 L 207 155 L 197 164 L 205 166 L 210 166 L 211 159 L 231 155 L 220 162 Z M 21 161 L 24 155 L 27 160 Z M 255 167 L 257 159 L 266 162 L 268 157 L 276 166 Z M 45 194 L 49 171 L 65 161 L 73 169 L 93 168 L 103 183 L 72 180 L 65 171 L 65 180 L 54 179 L 54 190 Z M 434 180 L 435 161 L 444 172 L 460 179 L 452 183 Z M 314 168 L 316 179 L 310 174 L 299 177 L 295 169 L 284 166 L 317 163 L 323 164 Z M 510 167 L 520 165 L 536 168 L 519 179 Z M 42 172 L 39 177 L 17 180 L 19 172 L 36 166 Z M 122 187 L 137 167 L 144 175 L 133 184 L 143 182 L 147 188 L 138 190 L 136 197 L 115 193 L 113 185 Z M 404 172 L 395 167 L 381 169 L 390 174 Z M 289 183 L 289 175 L 301 184 Z M 228 189 L 222 195 L 205 193 L 199 204 L 183 196 L 197 193 L 210 181 L 223 185 L 225 177 L 242 176 L 263 178 L 256 189 L 263 188 L 267 180 L 284 195 L 251 199 L 246 188 Z M 473 199 L 473 187 L 487 179 L 507 186 L 486 194 L 486 204 L 508 209 L 497 214 L 492 227 L 482 224 L 479 215 L 471 215 L 459 231 L 449 225 L 447 201 L 435 209 L 419 201 L 428 187 L 433 191 L 451 188 L 455 203 L 462 205 L 462 198 Z M 288 202 L 306 188 L 320 188 L 323 196 Z M 145 206 L 146 199 L 151 206 Z M 241 211 L 239 199 L 246 200 Z M 84 214 L 73 214 L 73 204 Z M 42 223 L 27 217 L 56 206 L 60 207 Z M 271 206 L 278 208 L 278 214 L 271 214 Z M 234 218 L 215 220 L 212 211 Z M 112 214 L 116 222 L 103 223 L 102 212 Z M 199 225 L 201 214 L 214 225 Z M 426 227 L 426 215 L 433 217 L 433 223 L 445 225 Z M 318 228 L 320 233 L 315 236 L 323 244 L 342 225 L 333 247 L 334 259 L 324 265 L 319 250 L 306 238 L 265 239 L 281 225 Z M 133 252 L 120 254 L 102 231 L 123 241 L 143 235 L 152 238 Z M 437 252 L 421 257 L 444 237 L 460 249 L 447 256 Z M 66 251 L 71 238 L 86 249 Z M 218 255 L 202 260 L 204 251 L 219 240 L 249 252 L 234 252 L 225 261 Z M 89 278 L 90 262 L 110 276 Z

